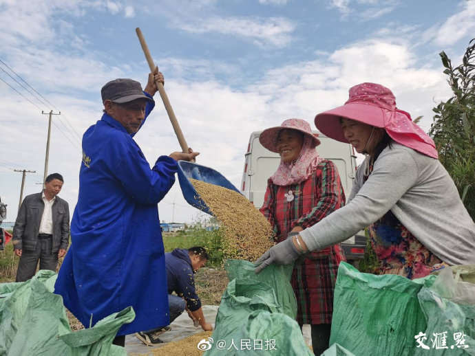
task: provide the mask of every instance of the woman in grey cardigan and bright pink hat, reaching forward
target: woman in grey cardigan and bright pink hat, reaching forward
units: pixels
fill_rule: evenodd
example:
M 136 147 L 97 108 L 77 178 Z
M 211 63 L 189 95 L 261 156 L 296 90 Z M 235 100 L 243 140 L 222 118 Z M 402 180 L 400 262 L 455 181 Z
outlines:
M 291 263 L 369 227 L 379 274 L 412 279 L 444 265 L 475 264 L 475 223 L 437 159 L 434 142 L 397 109 L 388 88 L 356 85 L 343 106 L 319 113 L 315 124 L 366 155 L 348 203 L 293 241 L 271 247 L 258 262 Z

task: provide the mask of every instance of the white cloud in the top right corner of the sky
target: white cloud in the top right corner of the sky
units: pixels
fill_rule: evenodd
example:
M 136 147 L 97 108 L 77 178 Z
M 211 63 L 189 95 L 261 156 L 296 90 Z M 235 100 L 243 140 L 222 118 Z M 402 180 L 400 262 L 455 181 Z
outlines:
M 475 1 L 463 1 L 460 12 L 450 16 L 445 23 L 432 30 L 434 31 L 434 42 L 440 46 L 452 45 L 467 34 L 474 34 Z

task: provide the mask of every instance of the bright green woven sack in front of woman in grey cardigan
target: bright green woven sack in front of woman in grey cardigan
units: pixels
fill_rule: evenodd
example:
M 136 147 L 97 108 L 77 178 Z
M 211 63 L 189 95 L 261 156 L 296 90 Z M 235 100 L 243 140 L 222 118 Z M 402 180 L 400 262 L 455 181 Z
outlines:
M 427 328 L 417 294 L 435 278 L 375 276 L 341 263 L 330 345 L 338 343 L 355 355 L 414 356 L 414 336 Z

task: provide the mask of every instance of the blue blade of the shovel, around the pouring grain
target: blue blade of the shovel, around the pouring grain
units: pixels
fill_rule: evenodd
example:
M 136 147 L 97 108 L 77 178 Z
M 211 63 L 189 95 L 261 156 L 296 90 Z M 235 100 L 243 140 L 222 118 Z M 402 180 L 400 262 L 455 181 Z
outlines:
M 200 194 L 196 192 L 195 188 L 189 181 L 189 179 L 196 179 L 198 181 L 204 181 L 205 183 L 215 184 L 216 186 L 222 186 L 234 190 L 242 194 L 233 183 L 227 180 L 221 173 L 212 168 L 201 166 L 187 161 L 178 161 L 178 181 L 180 181 L 180 188 L 182 189 L 184 199 L 195 208 L 213 215 L 208 205 L 200 198 Z

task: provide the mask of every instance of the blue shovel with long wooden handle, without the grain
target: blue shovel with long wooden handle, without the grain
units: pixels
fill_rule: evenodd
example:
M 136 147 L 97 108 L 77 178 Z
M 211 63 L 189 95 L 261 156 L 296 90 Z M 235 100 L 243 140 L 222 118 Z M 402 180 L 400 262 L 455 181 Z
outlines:
M 157 66 L 154 63 L 154 60 L 151 58 L 149 47 L 145 42 L 145 38 L 142 35 L 140 28 L 136 28 L 136 33 L 138 36 L 138 41 L 140 41 L 140 45 L 142 46 L 143 53 L 145 54 L 145 58 L 147 59 L 147 63 L 149 64 L 150 71 L 154 71 Z M 158 88 L 158 93 L 160 93 L 160 98 L 162 98 L 162 102 L 165 105 L 165 109 L 167 110 L 168 117 L 170 119 L 171 125 L 173 126 L 176 137 L 178 138 L 178 142 L 180 143 L 182 151 L 184 153 L 188 153 L 189 147 L 187 141 L 184 140 L 184 135 L 180 129 L 180 125 L 178 124 L 175 113 L 171 108 L 165 88 L 161 82 L 156 82 L 156 86 Z M 233 186 L 233 183 L 226 179 L 226 177 L 224 177 L 217 170 L 213 170 L 212 168 L 201 166 L 200 164 L 196 163 L 178 161 L 178 181 L 180 181 L 180 188 L 182 189 L 184 199 L 195 208 L 207 212 L 208 214 L 213 213 L 209 209 L 207 203 L 200 199 L 200 194 L 190 183 L 189 179 L 203 181 L 205 183 L 224 187 L 226 189 L 234 190 L 235 192 L 240 193 L 239 190 Z

